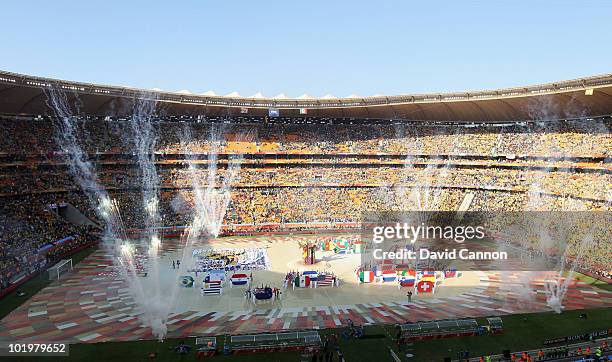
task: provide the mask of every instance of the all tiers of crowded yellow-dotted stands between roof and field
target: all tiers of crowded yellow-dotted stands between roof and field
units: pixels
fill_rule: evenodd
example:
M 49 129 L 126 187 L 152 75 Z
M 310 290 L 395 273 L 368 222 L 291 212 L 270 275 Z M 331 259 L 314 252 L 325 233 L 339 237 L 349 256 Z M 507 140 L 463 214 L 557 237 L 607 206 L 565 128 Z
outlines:
M 156 168 L 165 226 L 188 224 L 193 209 L 188 156 L 206 187 L 207 153 L 218 153 L 216 185 L 234 155 L 241 168 L 230 185 L 225 232 L 240 225 L 358 223 L 365 211 L 609 210 L 610 121 L 502 125 L 190 124 L 157 122 Z M 216 128 L 216 130 L 212 130 Z M 126 228 L 144 225 L 139 170 L 124 135 L 125 120 L 80 122 L 79 132 L 100 182 L 117 201 Z M 65 165 L 48 118 L 0 119 L 0 279 L 33 273 L 90 243 L 98 230 L 77 226 L 50 205 L 69 203 L 92 222 L 95 210 Z M 186 152 L 193 153 L 187 155 Z M 419 202 L 409 195 L 419 194 Z M 538 204 L 532 202 L 538 195 Z M 69 242 L 56 243 L 70 238 Z M 50 247 L 47 247 L 49 246 Z M 41 249 L 45 252 L 40 252 Z M 581 267 L 609 277 L 600 245 Z M 600 252 L 599 252 L 600 251 Z

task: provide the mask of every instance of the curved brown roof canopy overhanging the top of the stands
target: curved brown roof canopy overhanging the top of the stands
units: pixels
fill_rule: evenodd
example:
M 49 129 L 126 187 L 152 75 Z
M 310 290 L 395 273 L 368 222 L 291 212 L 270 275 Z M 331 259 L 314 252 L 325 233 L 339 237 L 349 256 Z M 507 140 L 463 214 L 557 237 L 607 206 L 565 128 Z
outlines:
M 52 113 L 45 90 L 78 98 L 81 115 L 124 116 L 138 99 L 156 99 L 168 116 L 354 118 L 436 122 L 512 122 L 612 114 L 612 74 L 489 91 L 355 98 L 197 95 L 63 81 L 0 71 L 0 114 Z

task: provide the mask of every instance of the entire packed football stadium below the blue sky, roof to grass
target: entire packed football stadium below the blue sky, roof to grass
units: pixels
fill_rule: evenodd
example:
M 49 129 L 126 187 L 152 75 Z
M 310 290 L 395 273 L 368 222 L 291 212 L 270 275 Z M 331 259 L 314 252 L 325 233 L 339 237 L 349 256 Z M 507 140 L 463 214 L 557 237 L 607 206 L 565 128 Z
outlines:
M 268 97 L 0 71 L 0 355 L 607 361 L 611 128 L 612 74 Z

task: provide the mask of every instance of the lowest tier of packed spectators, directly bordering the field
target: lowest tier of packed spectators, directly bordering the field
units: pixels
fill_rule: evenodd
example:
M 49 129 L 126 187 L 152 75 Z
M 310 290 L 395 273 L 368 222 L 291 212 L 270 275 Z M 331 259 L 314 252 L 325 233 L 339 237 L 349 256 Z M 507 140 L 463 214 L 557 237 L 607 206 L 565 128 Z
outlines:
M 219 211 L 219 220 L 225 225 L 223 234 L 245 228 L 250 232 L 346 228 L 346 224 L 360 222 L 365 212 L 390 210 L 609 210 L 609 204 L 604 201 L 462 187 L 258 187 L 232 189 L 228 196 L 225 212 Z M 145 226 L 140 190 L 111 190 L 110 197 L 117 202 L 125 228 Z M 85 243 L 95 237 L 92 231 L 97 230 L 99 220 L 81 193 L 33 193 L 3 197 L 2 201 L 0 279 L 3 284 L 24 271 L 38 268 L 41 260 L 49 259 L 49 251 L 61 251 L 67 245 L 46 249 L 49 243 L 67 237 L 74 238 L 72 243 Z M 63 204 L 74 206 L 82 219 L 77 217 L 75 221 L 74 215 L 69 217 L 58 211 L 57 207 Z M 193 191 L 162 190 L 159 211 L 164 226 L 189 225 L 195 212 Z M 83 220 L 91 224 L 79 224 Z M 600 239 L 596 238 L 594 247 L 581 258 L 580 266 L 607 276 L 612 246 Z M 526 248 L 535 247 L 538 242 L 512 241 Z M 580 242 L 570 239 L 568 244 Z M 568 250 L 570 257 L 577 252 L 577 249 Z

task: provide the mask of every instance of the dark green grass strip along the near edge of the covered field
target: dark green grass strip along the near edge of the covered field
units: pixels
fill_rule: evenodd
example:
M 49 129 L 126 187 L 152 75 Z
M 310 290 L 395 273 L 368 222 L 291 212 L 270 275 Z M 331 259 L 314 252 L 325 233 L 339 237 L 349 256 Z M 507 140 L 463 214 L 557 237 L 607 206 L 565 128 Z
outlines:
M 542 346 L 545 339 L 587 333 L 607 329 L 612 326 L 612 308 L 576 310 L 555 313 L 536 313 L 502 316 L 504 332 L 499 335 L 485 335 L 463 338 L 449 338 L 416 342 L 412 346 L 404 346 L 401 352 L 395 348 L 391 335 L 393 326 L 368 326 L 363 339 L 340 340 L 340 349 L 349 362 L 392 361 L 388 347 L 393 347 L 402 361 L 442 361 L 444 357 L 456 357 L 461 349 L 469 349 L 472 356 L 499 354 L 503 349 L 513 351 L 536 349 Z M 581 313 L 587 313 L 587 319 L 578 318 Z M 484 318 L 477 318 L 484 324 Z M 342 334 L 341 329 L 323 330 L 321 335 Z M 182 339 L 193 345 L 193 338 Z M 223 337 L 217 338 L 219 350 L 223 348 Z M 110 342 L 97 344 L 76 344 L 70 346 L 70 357 L 54 358 L 57 361 L 195 361 L 192 352 L 180 356 L 173 351 L 179 339 L 168 339 L 163 343 L 157 341 Z M 154 359 L 149 353 L 157 353 Z M 406 358 L 406 353 L 412 353 L 414 358 Z M 211 362 L 295 362 L 310 361 L 301 358 L 300 352 L 259 353 L 250 355 L 217 355 L 210 358 Z M 35 361 L 34 358 L 7 358 L 7 361 Z M 40 359 L 38 359 L 40 360 Z

